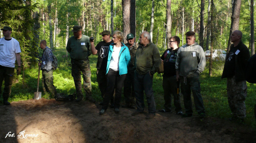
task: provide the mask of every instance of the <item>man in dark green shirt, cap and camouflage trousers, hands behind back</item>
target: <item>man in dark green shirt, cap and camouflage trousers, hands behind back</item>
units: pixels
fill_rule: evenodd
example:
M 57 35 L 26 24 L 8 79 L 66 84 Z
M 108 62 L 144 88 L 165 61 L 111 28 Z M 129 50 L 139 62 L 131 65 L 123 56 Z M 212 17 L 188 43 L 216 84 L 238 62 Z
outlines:
M 75 25 L 73 27 L 73 35 L 69 38 L 66 50 L 71 57 L 71 74 L 76 86 L 76 101 L 83 100 L 81 71 L 83 73 L 83 88 L 86 92 L 86 99 L 90 102 L 95 102 L 92 98 L 92 85 L 91 85 L 91 69 L 89 63 L 89 55 L 92 53 L 90 38 L 82 34 L 82 27 Z

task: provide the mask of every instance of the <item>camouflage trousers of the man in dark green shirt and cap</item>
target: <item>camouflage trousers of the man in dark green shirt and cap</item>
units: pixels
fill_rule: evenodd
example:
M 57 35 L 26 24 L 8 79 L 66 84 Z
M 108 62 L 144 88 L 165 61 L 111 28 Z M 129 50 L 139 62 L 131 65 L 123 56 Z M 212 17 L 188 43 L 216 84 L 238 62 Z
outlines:
M 92 96 L 92 85 L 91 85 L 91 69 L 89 59 L 85 60 L 73 60 L 71 59 L 72 69 L 71 75 L 73 76 L 74 83 L 76 86 L 76 96 L 83 97 L 82 93 L 82 82 L 81 82 L 81 71 L 83 74 L 83 89 L 86 92 L 86 98 Z

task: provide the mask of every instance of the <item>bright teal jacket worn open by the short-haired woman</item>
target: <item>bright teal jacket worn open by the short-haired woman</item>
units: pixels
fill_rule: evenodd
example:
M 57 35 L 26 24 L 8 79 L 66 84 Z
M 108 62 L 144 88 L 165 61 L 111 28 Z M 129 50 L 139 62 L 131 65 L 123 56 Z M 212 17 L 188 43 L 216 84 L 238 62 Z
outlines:
M 127 46 L 121 43 L 121 50 L 119 53 L 119 75 L 127 74 L 127 67 L 130 63 L 130 52 Z M 108 59 L 107 59 L 107 72 L 109 72 L 109 64 L 112 57 L 114 43 L 109 45 Z

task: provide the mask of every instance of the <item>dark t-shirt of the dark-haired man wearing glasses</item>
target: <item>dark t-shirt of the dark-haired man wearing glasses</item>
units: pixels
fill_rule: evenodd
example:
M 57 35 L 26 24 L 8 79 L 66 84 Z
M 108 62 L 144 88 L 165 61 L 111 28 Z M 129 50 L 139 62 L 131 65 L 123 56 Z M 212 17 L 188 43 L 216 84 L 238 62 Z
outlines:
M 164 76 L 175 76 L 175 62 L 177 58 L 178 48 L 172 50 L 171 48 L 164 51 L 161 60 L 164 60 Z

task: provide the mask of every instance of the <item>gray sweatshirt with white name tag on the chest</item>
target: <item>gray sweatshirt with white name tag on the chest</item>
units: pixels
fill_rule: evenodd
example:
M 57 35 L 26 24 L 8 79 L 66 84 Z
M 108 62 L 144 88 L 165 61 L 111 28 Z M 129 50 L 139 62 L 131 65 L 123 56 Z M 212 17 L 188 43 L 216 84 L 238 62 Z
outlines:
M 190 46 L 185 44 L 179 48 L 175 69 L 179 71 L 180 76 L 188 76 L 194 72 L 200 74 L 204 71 L 205 65 L 204 50 L 197 43 Z

